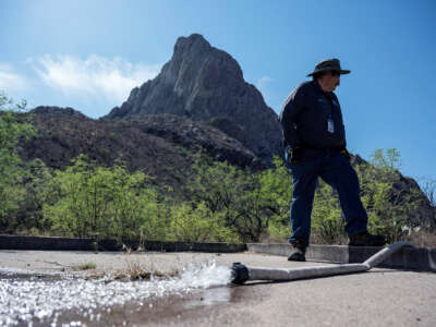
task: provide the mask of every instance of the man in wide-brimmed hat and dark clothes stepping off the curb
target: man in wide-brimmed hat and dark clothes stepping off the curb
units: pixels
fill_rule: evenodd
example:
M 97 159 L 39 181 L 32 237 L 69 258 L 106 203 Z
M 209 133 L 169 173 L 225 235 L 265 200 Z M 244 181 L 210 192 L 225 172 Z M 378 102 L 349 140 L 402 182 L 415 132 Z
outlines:
M 367 232 L 367 215 L 360 199 L 358 174 L 347 152 L 342 113 L 335 88 L 342 70 L 338 59 L 319 62 L 313 81 L 296 86 L 280 113 L 286 160 L 293 181 L 291 204 L 292 254 L 289 261 L 305 261 L 311 235 L 311 213 L 317 178 L 337 190 L 349 245 L 382 246 L 385 238 Z

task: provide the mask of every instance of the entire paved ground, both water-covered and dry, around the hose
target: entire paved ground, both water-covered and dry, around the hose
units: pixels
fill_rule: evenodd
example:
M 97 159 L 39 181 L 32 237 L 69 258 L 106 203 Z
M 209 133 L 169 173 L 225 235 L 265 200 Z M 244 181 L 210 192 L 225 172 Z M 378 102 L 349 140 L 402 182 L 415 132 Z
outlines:
M 89 262 L 96 269 L 77 270 Z M 0 326 L 436 326 L 436 274 L 373 269 L 234 287 L 233 262 L 326 265 L 252 253 L 0 251 Z M 113 280 L 132 263 L 179 275 Z

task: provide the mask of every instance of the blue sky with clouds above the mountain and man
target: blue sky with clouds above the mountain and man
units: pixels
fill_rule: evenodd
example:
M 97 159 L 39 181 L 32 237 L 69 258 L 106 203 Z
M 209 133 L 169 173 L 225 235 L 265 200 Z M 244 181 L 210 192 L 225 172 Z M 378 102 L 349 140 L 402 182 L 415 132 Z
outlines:
M 401 172 L 436 179 L 436 1 L 0 1 L 0 89 L 98 118 L 199 33 L 279 112 L 316 62 L 336 57 L 349 148 L 397 148 Z

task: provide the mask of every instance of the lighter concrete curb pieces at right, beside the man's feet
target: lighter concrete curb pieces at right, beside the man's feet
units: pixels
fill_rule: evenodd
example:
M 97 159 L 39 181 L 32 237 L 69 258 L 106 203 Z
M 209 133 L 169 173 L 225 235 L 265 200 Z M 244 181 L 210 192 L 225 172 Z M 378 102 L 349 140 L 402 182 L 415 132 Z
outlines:
M 246 244 L 249 251 L 289 256 L 289 244 Z M 338 264 L 363 263 L 382 247 L 347 246 L 347 245 L 311 245 L 307 247 L 306 259 L 314 262 L 330 262 Z M 401 268 L 423 271 L 436 271 L 436 249 L 404 247 L 395 253 L 377 267 Z

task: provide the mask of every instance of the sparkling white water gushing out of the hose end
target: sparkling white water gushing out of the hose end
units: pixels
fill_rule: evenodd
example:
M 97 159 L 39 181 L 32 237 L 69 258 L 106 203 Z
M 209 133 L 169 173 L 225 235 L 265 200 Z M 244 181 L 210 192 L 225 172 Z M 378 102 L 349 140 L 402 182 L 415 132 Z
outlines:
M 93 311 L 170 294 L 185 294 L 194 289 L 225 286 L 231 280 L 231 270 L 215 262 L 191 264 L 175 278 L 149 281 L 113 281 L 63 277 L 59 280 L 27 280 L 0 277 L 0 326 L 28 324 L 37 318 L 57 326 L 62 311 L 78 311 L 90 319 L 99 319 Z M 77 325 L 80 326 L 80 325 Z

